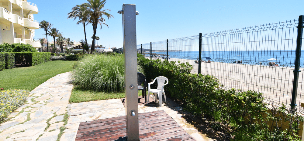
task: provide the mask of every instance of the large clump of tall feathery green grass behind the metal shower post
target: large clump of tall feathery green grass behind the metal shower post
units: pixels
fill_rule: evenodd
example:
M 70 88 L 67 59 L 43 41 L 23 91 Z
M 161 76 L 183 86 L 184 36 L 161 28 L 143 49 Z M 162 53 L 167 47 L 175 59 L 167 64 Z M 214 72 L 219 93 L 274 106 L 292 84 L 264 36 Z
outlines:
M 121 91 L 124 85 L 123 55 L 85 55 L 72 72 L 74 85 L 86 90 Z M 143 72 L 140 66 L 138 72 Z

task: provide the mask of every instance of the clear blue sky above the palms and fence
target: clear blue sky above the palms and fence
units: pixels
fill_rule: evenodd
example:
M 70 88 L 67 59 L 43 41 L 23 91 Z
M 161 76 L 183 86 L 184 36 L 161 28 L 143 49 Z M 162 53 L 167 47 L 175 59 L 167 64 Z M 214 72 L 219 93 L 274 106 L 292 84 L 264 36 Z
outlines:
M 52 28 L 59 28 L 65 38 L 72 41 L 84 39 L 83 25 L 67 19 L 67 13 L 75 5 L 86 0 L 28 0 L 38 5 L 37 21 L 49 21 Z M 107 0 L 105 9 L 114 18 L 107 19 L 106 26 L 98 25 L 98 44 L 106 47 L 123 46 L 122 15 L 117 13 L 123 5 L 135 4 L 137 44 L 165 41 L 298 19 L 304 15 L 304 0 Z M 35 30 L 34 39 L 46 38 L 44 30 Z M 86 26 L 88 44 L 92 43 L 92 25 Z M 49 38 L 48 41 L 52 41 Z

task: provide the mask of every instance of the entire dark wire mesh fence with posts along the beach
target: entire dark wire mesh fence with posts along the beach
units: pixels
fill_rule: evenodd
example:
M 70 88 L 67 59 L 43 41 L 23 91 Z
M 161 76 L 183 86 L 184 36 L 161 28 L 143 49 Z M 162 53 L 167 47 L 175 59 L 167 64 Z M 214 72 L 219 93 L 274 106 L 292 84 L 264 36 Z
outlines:
M 139 44 L 137 50 L 151 59 L 189 62 L 192 73 L 213 75 L 228 88 L 264 93 L 266 103 L 290 105 L 304 113 L 302 28 L 299 16 L 299 20 Z

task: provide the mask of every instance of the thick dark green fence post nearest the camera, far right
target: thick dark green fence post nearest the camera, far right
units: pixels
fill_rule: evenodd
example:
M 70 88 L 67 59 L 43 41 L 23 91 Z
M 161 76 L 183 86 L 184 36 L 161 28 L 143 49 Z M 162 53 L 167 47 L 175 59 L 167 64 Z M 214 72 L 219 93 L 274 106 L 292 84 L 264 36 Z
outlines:
M 303 18 L 304 16 L 301 15 L 299 16 L 299 25 L 297 26 L 298 28 L 298 36 L 297 36 L 297 47 L 295 51 L 295 69 L 293 70 L 294 76 L 293 76 L 293 84 L 292 84 L 292 98 L 291 98 L 291 103 L 290 109 L 294 109 L 297 104 L 297 91 L 298 91 L 298 80 L 299 80 L 299 72 L 301 72 L 300 69 L 300 58 L 301 58 L 301 48 L 302 48 L 302 34 L 303 34 Z

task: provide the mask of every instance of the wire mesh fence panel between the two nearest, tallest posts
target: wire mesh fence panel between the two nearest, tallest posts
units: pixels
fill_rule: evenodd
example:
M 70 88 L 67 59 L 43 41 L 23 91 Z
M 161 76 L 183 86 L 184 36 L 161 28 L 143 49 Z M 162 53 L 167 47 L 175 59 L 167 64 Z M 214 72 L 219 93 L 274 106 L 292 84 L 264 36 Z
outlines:
M 264 93 L 267 103 L 289 105 L 296 25 L 294 20 L 203 34 L 202 50 L 214 62 L 203 64 L 202 74 L 216 76 L 229 88 Z

